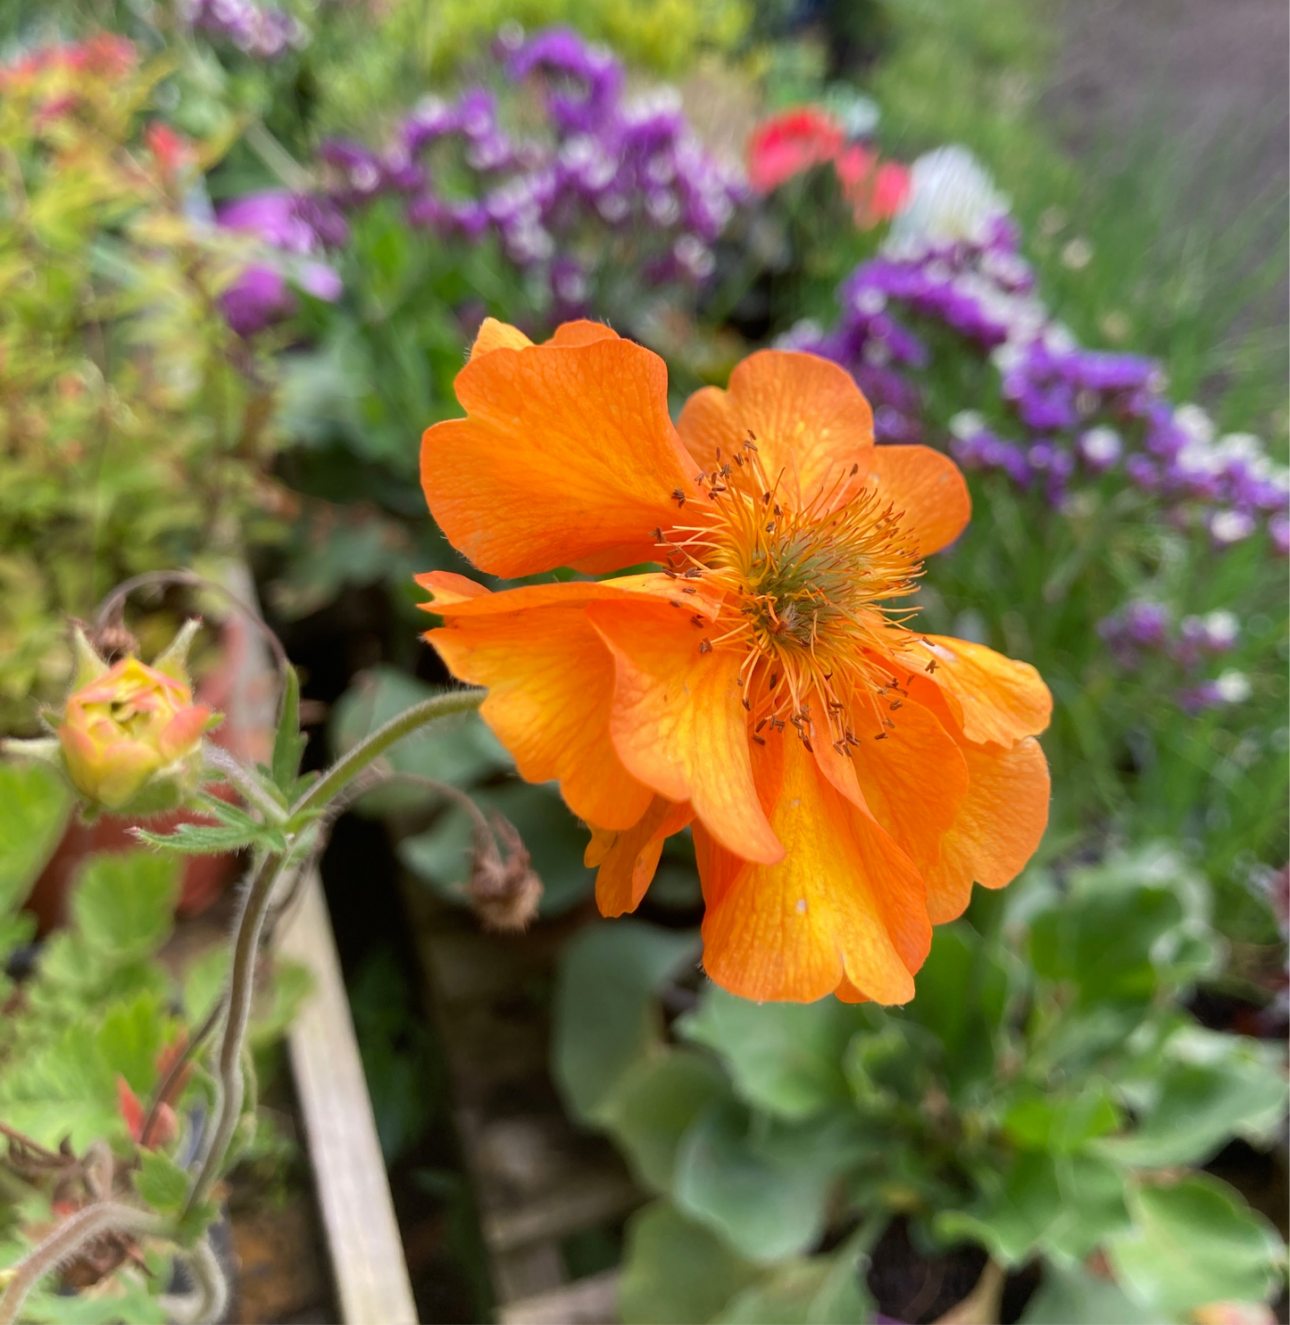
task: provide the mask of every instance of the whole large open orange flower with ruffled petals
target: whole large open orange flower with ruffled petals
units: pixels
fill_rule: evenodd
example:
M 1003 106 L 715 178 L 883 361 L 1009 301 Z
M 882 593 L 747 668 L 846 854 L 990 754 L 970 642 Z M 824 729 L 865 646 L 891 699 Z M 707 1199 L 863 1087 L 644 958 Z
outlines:
M 704 963 L 756 999 L 903 1003 L 931 926 L 1001 888 L 1047 818 L 1035 670 L 920 635 L 920 559 L 969 514 L 955 464 L 874 447 L 838 366 L 764 350 L 674 427 L 667 371 L 591 322 L 489 319 L 422 482 L 493 575 L 660 571 L 489 592 L 418 578 L 452 672 L 533 782 L 591 825 L 607 916 L 693 825 Z

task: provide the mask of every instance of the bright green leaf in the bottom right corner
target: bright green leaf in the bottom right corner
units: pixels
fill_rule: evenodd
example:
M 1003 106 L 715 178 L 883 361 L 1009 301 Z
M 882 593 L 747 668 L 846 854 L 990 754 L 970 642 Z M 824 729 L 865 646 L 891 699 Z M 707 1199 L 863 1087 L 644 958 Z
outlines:
M 1225 1183 L 1192 1174 L 1130 1189 L 1134 1226 L 1108 1240 L 1116 1279 L 1139 1305 L 1181 1316 L 1208 1302 L 1267 1298 L 1286 1264 L 1277 1231 Z

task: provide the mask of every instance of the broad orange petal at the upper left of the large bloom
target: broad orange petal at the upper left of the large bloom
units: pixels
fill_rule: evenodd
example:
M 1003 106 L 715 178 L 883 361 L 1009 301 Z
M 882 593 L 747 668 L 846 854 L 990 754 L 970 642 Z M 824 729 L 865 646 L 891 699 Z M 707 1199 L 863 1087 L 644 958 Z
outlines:
M 579 333 L 582 334 L 582 333 Z M 532 575 L 658 559 L 651 534 L 696 498 L 667 412 L 667 368 L 616 337 L 496 348 L 457 375 L 468 417 L 426 429 L 422 486 L 481 570 Z

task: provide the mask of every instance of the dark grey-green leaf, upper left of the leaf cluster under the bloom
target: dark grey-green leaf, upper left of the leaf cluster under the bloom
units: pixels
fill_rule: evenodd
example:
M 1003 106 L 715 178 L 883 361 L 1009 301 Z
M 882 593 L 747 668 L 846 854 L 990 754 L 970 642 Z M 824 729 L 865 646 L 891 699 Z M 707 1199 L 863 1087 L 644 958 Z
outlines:
M 569 1109 L 599 1122 L 623 1075 L 662 1044 L 655 991 L 699 954 L 697 935 L 639 921 L 583 929 L 556 988 L 552 1072 Z

